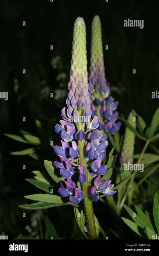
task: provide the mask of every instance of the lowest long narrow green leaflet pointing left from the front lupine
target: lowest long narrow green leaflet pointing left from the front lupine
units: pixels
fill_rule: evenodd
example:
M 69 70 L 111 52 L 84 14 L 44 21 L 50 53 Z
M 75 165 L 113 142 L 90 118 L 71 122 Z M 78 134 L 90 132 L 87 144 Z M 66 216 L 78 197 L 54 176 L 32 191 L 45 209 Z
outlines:
M 19 205 L 19 207 L 26 210 L 44 210 L 44 209 L 63 206 L 63 205 L 70 205 L 70 204 L 69 203 L 53 204 L 53 203 L 47 203 L 47 202 L 37 202 L 37 203 L 31 203 L 31 204 L 22 204 L 22 205 Z

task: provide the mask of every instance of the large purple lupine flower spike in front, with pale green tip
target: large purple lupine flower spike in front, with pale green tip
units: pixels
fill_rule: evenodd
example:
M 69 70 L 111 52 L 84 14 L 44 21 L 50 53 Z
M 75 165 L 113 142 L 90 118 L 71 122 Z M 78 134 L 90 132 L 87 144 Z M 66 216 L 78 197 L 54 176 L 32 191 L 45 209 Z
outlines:
M 104 80 L 102 80 L 104 85 Z M 105 87 L 104 87 L 105 88 Z M 94 184 L 91 188 L 90 184 L 93 179 L 99 179 L 100 175 L 104 175 L 108 168 L 107 165 L 101 165 L 105 158 L 105 149 L 108 146 L 107 136 L 102 135 L 102 131 L 98 130 L 100 124 L 99 118 L 95 115 L 95 110 L 91 110 L 91 101 L 88 91 L 88 73 L 86 58 L 86 31 L 85 23 L 82 18 L 78 18 L 74 24 L 73 46 L 70 81 L 68 83 L 68 98 L 66 100 L 67 107 L 62 108 L 60 124 L 55 126 L 55 131 L 61 137 L 61 145 L 55 146 L 54 151 L 60 157 L 61 162 L 55 161 L 54 166 L 64 177 L 65 181 L 60 183 L 58 190 L 62 197 L 69 197 L 71 204 L 77 204 L 81 200 L 89 197 L 85 195 L 83 187 L 88 184 L 90 197 L 93 201 L 98 201 L 101 193 L 112 193 L 111 187 L 108 186 L 109 181 L 103 181 Z M 96 87 L 98 90 L 98 85 Z M 106 87 L 105 91 L 109 91 Z M 110 99 L 111 103 L 112 99 Z M 98 101 L 100 106 L 100 101 Z M 115 106 L 114 106 L 115 107 Z M 91 119 L 93 113 L 93 119 Z M 109 111 L 112 119 L 116 118 L 116 114 Z M 114 121 L 112 121 L 114 122 Z M 111 127 L 112 128 L 112 127 Z M 81 149 L 80 145 L 83 145 Z M 80 165 L 81 155 L 84 157 L 85 166 Z M 84 162 L 85 162 L 84 161 Z M 88 182 L 88 164 L 91 163 L 92 181 Z M 77 188 L 77 182 L 81 183 L 81 188 Z M 79 184 L 78 184 L 79 187 Z

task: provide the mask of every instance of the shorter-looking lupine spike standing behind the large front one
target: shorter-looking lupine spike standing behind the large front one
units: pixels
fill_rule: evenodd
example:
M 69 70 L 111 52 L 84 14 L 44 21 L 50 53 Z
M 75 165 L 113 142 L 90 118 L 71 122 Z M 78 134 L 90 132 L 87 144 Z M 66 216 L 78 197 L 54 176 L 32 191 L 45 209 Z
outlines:
M 106 84 L 105 68 L 102 47 L 102 29 L 99 16 L 95 16 L 92 22 L 91 41 L 91 66 L 89 74 L 89 91 L 92 101 L 92 116 L 100 118 L 99 128 L 105 132 L 114 134 L 120 129 L 121 123 L 117 122 L 118 101 L 110 96 L 110 87 Z

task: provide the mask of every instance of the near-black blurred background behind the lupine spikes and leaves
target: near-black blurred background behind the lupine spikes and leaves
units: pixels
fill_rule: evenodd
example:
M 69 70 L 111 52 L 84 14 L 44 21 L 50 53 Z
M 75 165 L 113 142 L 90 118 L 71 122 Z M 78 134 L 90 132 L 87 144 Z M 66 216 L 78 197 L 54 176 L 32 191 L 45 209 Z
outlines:
M 9 155 L 27 147 L 4 133 L 18 134 L 23 129 L 37 135 L 38 119 L 46 137 L 54 137 L 54 126 L 65 105 L 75 19 L 81 16 L 86 23 L 89 64 L 91 22 L 94 15 L 100 16 L 103 47 L 109 46 L 108 51 L 104 50 L 106 78 L 112 95 L 119 101 L 119 114 L 127 117 L 133 108 L 149 125 L 158 106 L 158 99 L 151 98 L 151 93 L 159 88 L 158 7 L 158 1 L 141 0 L 0 1 L 0 91 L 8 92 L 8 101 L 0 100 L 0 233 L 5 231 L 11 237 L 27 234 L 24 227 L 32 213 L 24 219 L 17 206 L 28 202 L 24 195 L 39 192 L 24 180 L 32 177 L 31 171 L 38 163 L 29 156 Z M 125 28 L 123 21 L 128 18 L 144 20 L 144 29 Z M 23 21 L 26 26 L 22 26 Z M 24 68 L 26 74 L 22 74 Z M 53 99 L 50 92 L 54 93 Z M 26 122 L 22 122 L 22 117 L 26 117 Z M 138 143 L 140 149 L 142 142 Z M 53 150 L 43 152 L 41 164 L 42 159 L 53 161 Z M 26 170 L 22 169 L 23 164 L 27 165 Z M 64 216 L 67 222 L 71 221 L 73 212 L 50 212 L 60 235 L 70 237 L 73 231 L 61 230 L 58 223 L 60 227 L 64 225 Z

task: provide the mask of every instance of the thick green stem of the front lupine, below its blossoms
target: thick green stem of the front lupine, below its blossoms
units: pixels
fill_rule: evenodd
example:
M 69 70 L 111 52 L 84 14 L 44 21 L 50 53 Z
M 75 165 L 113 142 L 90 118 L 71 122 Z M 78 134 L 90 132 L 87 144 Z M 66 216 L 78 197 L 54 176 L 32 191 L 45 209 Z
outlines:
M 92 199 L 90 196 L 90 189 L 89 189 L 89 182 L 88 182 L 88 169 L 87 169 L 87 162 L 86 162 L 86 155 L 85 155 L 85 140 L 78 140 L 78 151 L 79 151 L 79 161 L 80 165 L 86 168 L 86 181 L 82 184 L 82 190 L 85 195 L 85 211 L 86 217 L 88 221 L 88 231 L 90 234 L 91 239 L 97 239 L 97 232 L 94 220 L 94 213 L 93 213 L 93 205 Z

